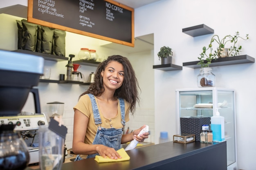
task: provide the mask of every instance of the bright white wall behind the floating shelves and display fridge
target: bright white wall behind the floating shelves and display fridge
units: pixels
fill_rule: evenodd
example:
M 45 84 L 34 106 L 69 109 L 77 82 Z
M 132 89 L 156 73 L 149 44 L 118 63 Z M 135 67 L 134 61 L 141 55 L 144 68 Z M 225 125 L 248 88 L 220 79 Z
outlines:
M 155 65 L 160 64 L 157 52 L 162 46 L 174 51 L 174 64 L 197 61 L 202 47 L 207 46 L 211 35 L 191 37 L 183 28 L 206 24 L 221 37 L 240 32 L 249 40 L 239 41 L 242 53 L 255 56 L 256 1 L 254 0 L 162 0 L 135 9 L 135 36 L 154 33 Z M 256 64 L 238 64 L 213 67 L 216 86 L 234 88 L 236 92 L 236 132 L 238 169 L 254 170 L 256 128 L 254 111 Z M 159 132 L 167 130 L 175 135 L 175 89 L 197 88 L 199 69 L 183 67 L 182 71 L 155 70 L 155 140 Z M 163 126 L 164 125 L 164 126 Z

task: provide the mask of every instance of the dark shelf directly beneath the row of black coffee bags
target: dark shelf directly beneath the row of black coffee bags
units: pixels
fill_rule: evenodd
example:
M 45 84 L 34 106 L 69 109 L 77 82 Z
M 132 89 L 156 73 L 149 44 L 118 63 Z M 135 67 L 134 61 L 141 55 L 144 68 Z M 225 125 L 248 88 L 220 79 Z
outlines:
M 45 54 L 45 53 L 38 53 L 38 52 L 29 51 L 29 50 L 18 49 L 18 50 L 14 50 L 14 52 L 37 55 L 37 56 L 43 57 L 45 60 L 56 61 L 56 62 L 68 60 L 68 57 L 52 55 L 52 54 Z

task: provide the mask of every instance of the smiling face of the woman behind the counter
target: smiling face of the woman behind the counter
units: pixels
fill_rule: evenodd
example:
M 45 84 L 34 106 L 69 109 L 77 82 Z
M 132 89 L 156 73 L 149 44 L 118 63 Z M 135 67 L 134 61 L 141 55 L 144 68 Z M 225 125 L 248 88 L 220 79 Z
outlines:
M 101 76 L 103 77 L 105 90 L 116 90 L 124 82 L 124 66 L 119 62 L 111 61 L 105 70 L 101 72 Z

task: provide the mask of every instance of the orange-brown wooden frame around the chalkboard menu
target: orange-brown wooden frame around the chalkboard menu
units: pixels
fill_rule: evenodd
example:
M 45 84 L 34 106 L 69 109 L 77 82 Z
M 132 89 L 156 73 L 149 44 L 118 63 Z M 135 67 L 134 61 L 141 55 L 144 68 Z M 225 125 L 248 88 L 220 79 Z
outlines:
M 117 7 L 126 9 L 126 10 L 131 12 L 131 21 L 130 21 L 131 22 L 131 33 L 130 33 L 131 34 L 131 41 L 130 42 L 123 41 L 123 40 L 117 40 L 115 38 L 98 35 L 96 33 L 90 33 L 90 32 L 82 31 L 82 30 L 79 30 L 79 29 L 73 29 L 73 28 L 70 28 L 70 27 L 67 27 L 67 26 L 63 26 L 63 25 L 59 25 L 59 24 L 56 24 L 56 23 L 51 23 L 51 22 L 47 22 L 47 21 L 44 21 L 44 20 L 39 20 L 39 19 L 33 18 L 33 10 L 34 10 L 33 9 L 33 0 L 28 0 L 27 20 L 28 20 L 28 22 L 32 22 L 32 23 L 35 23 L 35 24 L 40 24 L 40 25 L 43 25 L 43 26 L 48 26 L 48 27 L 55 28 L 55 29 L 60 29 L 60 30 L 63 30 L 63 31 L 69 31 L 69 32 L 72 32 L 72 33 L 86 35 L 86 36 L 89 36 L 89 37 L 98 38 L 98 39 L 101 39 L 101 40 L 106 40 L 106 41 L 115 42 L 115 43 L 118 43 L 118 44 L 123 44 L 123 45 L 126 45 L 126 46 L 134 47 L 134 9 L 130 8 L 128 6 L 125 6 L 123 4 L 120 4 L 118 2 L 115 2 L 113 0 L 104 0 L 104 1 L 109 2 L 111 4 L 114 4 Z M 102 27 L 104 28 L 104 26 L 102 26 Z M 127 33 L 124 32 L 124 34 L 127 34 Z

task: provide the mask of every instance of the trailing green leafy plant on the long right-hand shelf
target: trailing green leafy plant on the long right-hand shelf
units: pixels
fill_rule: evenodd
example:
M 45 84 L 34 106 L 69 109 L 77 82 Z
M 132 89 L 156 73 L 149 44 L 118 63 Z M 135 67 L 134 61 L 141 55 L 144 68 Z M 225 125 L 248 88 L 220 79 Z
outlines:
M 242 46 L 236 46 L 236 43 L 238 41 L 238 38 L 241 38 L 242 40 L 248 40 L 249 36 L 248 34 L 246 35 L 245 38 L 240 37 L 239 32 L 237 31 L 235 35 L 226 35 L 224 38 L 220 39 L 218 35 L 213 35 L 211 38 L 211 42 L 206 48 L 205 46 L 203 47 L 203 52 L 200 54 L 200 57 L 198 59 L 200 60 L 197 64 L 200 64 L 201 67 L 208 67 L 209 64 L 211 64 L 212 60 L 216 60 L 217 56 L 220 56 L 222 49 L 225 48 L 225 45 L 227 42 L 231 43 L 231 46 L 228 48 L 228 55 L 227 56 L 236 56 L 241 52 Z M 218 46 L 215 51 L 213 51 L 213 42 L 217 42 Z M 206 52 L 209 52 L 207 55 Z M 204 63 L 204 60 L 207 62 Z

